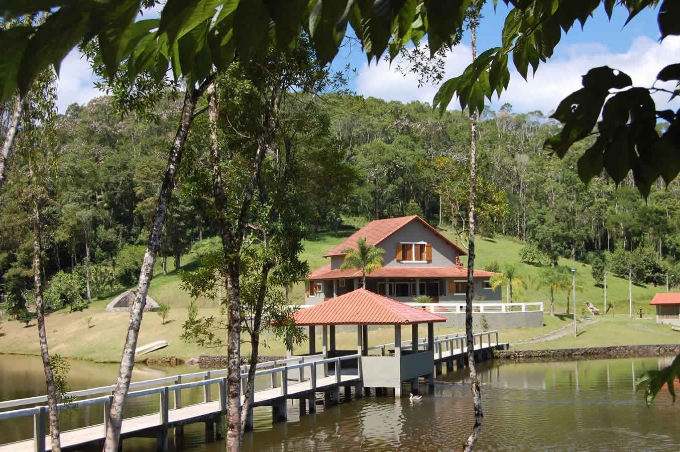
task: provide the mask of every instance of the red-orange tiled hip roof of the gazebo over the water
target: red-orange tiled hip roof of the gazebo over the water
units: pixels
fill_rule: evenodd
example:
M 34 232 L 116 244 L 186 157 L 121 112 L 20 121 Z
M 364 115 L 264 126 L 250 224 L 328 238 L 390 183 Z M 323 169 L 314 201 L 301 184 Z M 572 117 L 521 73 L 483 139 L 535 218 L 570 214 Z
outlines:
M 446 321 L 446 317 L 362 288 L 300 309 L 294 320 L 296 325 L 409 325 Z

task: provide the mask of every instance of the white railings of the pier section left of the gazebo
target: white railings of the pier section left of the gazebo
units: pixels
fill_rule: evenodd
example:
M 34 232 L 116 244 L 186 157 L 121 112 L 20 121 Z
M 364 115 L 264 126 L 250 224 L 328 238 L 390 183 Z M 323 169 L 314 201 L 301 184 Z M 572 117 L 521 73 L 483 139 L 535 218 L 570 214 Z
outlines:
M 312 355 L 311 358 L 316 358 L 320 355 Z M 328 364 L 335 364 L 335 383 L 337 385 L 340 385 L 342 375 L 342 362 L 346 360 L 357 360 L 358 362 L 358 378 L 362 378 L 362 367 L 361 367 L 361 355 L 360 354 L 355 354 L 355 355 L 346 355 L 346 356 L 339 356 L 337 358 L 326 358 L 326 359 L 320 359 L 320 360 L 312 360 L 312 361 L 305 361 L 304 359 L 301 358 L 310 358 L 310 356 L 307 357 L 295 357 L 295 358 L 289 358 L 287 360 L 278 360 L 278 361 L 273 361 L 273 362 L 266 362 L 266 363 L 260 363 L 264 364 L 268 368 L 262 369 L 262 370 L 256 370 L 255 372 L 255 377 L 261 377 L 263 375 L 271 375 L 271 388 L 267 389 L 273 389 L 276 387 L 281 387 L 281 394 L 280 396 L 286 398 L 288 396 L 288 386 L 289 386 L 289 379 L 288 379 L 288 372 L 290 370 L 296 370 L 299 369 L 300 372 L 300 380 L 296 381 L 296 383 L 303 383 L 304 381 L 310 381 L 311 385 L 311 390 L 316 390 L 317 383 L 318 383 L 318 375 L 320 372 L 322 372 L 323 377 L 328 377 Z M 295 362 L 295 364 L 290 364 L 290 362 Z M 284 366 L 276 366 L 273 363 L 279 363 L 279 364 L 285 364 Z M 258 367 L 260 366 L 258 364 Z M 322 370 L 319 370 L 319 367 L 322 366 Z M 243 366 L 247 367 L 247 366 Z M 303 372 L 304 368 L 309 367 L 310 369 L 310 378 L 305 379 L 305 375 Z M 281 384 L 280 386 L 278 385 L 279 379 L 276 378 L 277 374 L 281 374 L 280 381 Z M 216 378 L 217 375 L 220 375 L 220 377 Z M 227 388 L 227 379 L 226 377 L 222 377 L 222 375 L 226 375 L 226 369 L 220 369 L 220 370 L 207 370 L 205 372 L 194 372 L 190 374 L 184 374 L 184 375 L 173 375 L 171 377 L 163 377 L 160 379 L 154 379 L 154 380 L 147 380 L 147 381 L 139 381 L 137 383 L 132 383 L 130 387 L 139 387 L 141 385 L 163 385 L 164 383 L 168 382 L 174 382 L 175 384 L 172 385 L 163 385 L 160 387 L 152 387 L 149 389 L 141 389 L 139 391 L 133 391 L 129 392 L 126 396 L 126 398 L 136 398 L 136 397 L 141 397 L 141 396 L 149 396 L 152 394 L 159 394 L 159 403 L 158 403 L 158 423 L 159 425 L 164 425 L 167 426 L 169 423 L 169 411 L 170 411 L 170 394 L 173 394 L 173 409 L 177 408 L 182 408 L 182 389 L 188 389 L 188 388 L 194 388 L 194 387 L 203 387 L 203 403 L 207 402 L 214 402 L 214 401 L 219 401 L 220 402 L 220 411 L 222 413 L 226 413 L 226 388 Z M 190 381 L 187 383 L 182 383 L 182 379 L 192 379 L 192 378 L 203 378 L 202 380 L 198 381 Z M 245 383 L 248 379 L 248 373 L 241 373 L 241 381 Z M 211 391 L 210 387 L 211 385 L 217 384 L 219 387 L 220 395 L 217 400 L 213 400 L 211 397 Z M 71 396 L 87 396 L 91 394 L 101 394 L 102 392 L 109 392 L 115 389 L 115 386 L 103 386 L 103 387 L 96 387 L 96 388 L 91 388 L 91 389 L 82 389 L 80 391 L 72 391 L 69 393 Z M 253 392 L 253 400 L 254 396 L 256 395 L 257 391 Z M 65 408 L 75 408 L 75 407 L 82 407 L 82 406 L 91 406 L 91 405 L 97 405 L 101 404 L 103 405 L 103 435 L 105 436 L 106 434 L 106 428 L 107 428 L 107 419 L 108 419 L 108 412 L 109 412 L 109 406 L 112 403 L 113 396 L 111 395 L 106 395 L 106 396 L 99 396 L 95 398 L 88 398 L 84 400 L 75 400 L 73 402 L 66 402 L 66 403 L 61 403 L 58 404 L 58 409 L 61 411 Z M 46 396 L 37 396 L 33 398 L 24 398 L 24 399 L 18 399 L 18 400 L 7 400 L 5 402 L 0 402 L 0 408 L 8 408 L 12 406 L 22 406 L 22 405 L 27 405 L 27 404 L 33 404 L 33 403 L 39 403 L 43 402 L 46 400 Z M 199 402 L 200 404 L 200 402 Z M 191 405 L 188 405 L 191 406 Z M 151 413 L 153 414 L 153 413 Z M 14 419 L 17 417 L 25 417 L 25 416 L 33 416 L 33 440 L 35 441 L 35 450 L 37 451 L 44 451 L 45 450 L 45 437 L 48 432 L 48 406 L 46 405 L 41 405 L 41 406 L 33 406 L 31 408 L 20 408 L 18 410 L 13 410 L 13 411 L 0 411 L 0 421 L 4 419 Z

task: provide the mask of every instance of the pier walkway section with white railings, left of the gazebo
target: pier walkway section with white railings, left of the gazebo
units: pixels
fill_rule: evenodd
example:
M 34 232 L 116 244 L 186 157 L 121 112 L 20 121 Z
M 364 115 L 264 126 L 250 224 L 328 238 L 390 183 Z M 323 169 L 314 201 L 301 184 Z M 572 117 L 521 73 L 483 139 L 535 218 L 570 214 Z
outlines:
M 273 422 L 279 422 L 285 421 L 288 417 L 287 408 L 289 399 L 298 399 L 300 401 L 301 413 L 306 409 L 307 401 L 309 401 L 309 412 L 313 413 L 316 411 L 317 393 L 324 393 L 326 404 L 339 403 L 339 391 L 341 387 L 345 387 L 345 394 L 348 394 L 348 392 L 351 391 L 351 387 L 354 386 L 355 396 L 362 396 L 363 391 L 361 383 L 361 365 L 360 360 L 358 360 L 359 355 L 348 355 L 330 359 L 318 359 L 319 356 L 320 355 L 312 357 L 296 357 L 290 360 L 284 360 L 284 362 L 286 362 L 284 366 L 271 366 L 271 363 L 263 363 L 262 367 L 271 366 L 271 368 L 257 370 L 255 375 L 256 377 L 270 375 L 271 387 L 254 392 L 253 403 L 250 408 L 250 413 L 248 413 L 246 428 L 252 429 L 252 408 L 255 406 L 271 406 L 273 408 Z M 311 358 L 311 361 L 305 362 L 305 358 Z M 347 360 L 356 360 L 358 362 L 357 368 L 343 369 L 343 362 Z M 288 362 L 291 361 L 301 362 L 297 364 L 288 364 Z M 329 364 L 334 368 L 332 371 L 328 369 Z M 258 365 L 258 367 L 260 367 L 260 365 Z M 247 366 L 245 366 L 245 368 L 247 368 Z M 224 415 L 226 415 L 226 377 L 212 377 L 214 374 L 224 373 L 226 373 L 226 370 L 197 372 L 196 374 L 169 377 L 175 381 L 179 379 L 180 382 L 182 379 L 197 377 L 203 377 L 203 379 L 191 381 L 189 383 L 177 383 L 129 392 L 128 398 L 158 394 L 158 411 L 148 415 L 123 419 L 121 439 L 155 437 L 157 438 L 157 450 L 167 451 L 169 429 L 175 428 L 175 434 L 181 434 L 184 425 L 203 422 L 205 423 L 206 440 L 214 440 L 216 434 L 220 434 L 222 419 Z M 280 374 L 280 379 L 277 377 L 278 374 Z M 309 377 L 305 378 L 306 374 L 308 374 Z M 247 373 L 241 374 L 242 380 L 247 377 Z M 167 380 L 167 378 L 158 380 Z M 133 383 L 133 386 L 157 385 L 158 380 Z M 219 387 L 220 394 L 216 400 L 213 400 L 211 397 L 211 385 L 218 385 Z M 204 402 L 183 406 L 182 389 L 192 387 L 203 387 Z M 71 394 L 75 396 L 101 394 L 102 392 L 109 392 L 111 389 L 112 387 L 93 388 L 73 392 Z M 0 402 L 0 408 L 21 406 L 31 403 L 32 399 L 42 400 L 43 398 L 44 396 Z M 171 398 L 173 408 L 170 408 Z M 111 396 L 100 396 L 72 402 L 71 404 L 68 404 L 68 406 L 102 405 L 102 415 L 105 420 L 107 419 L 110 402 Z M 243 398 L 241 398 L 241 403 L 242 402 Z M 67 404 L 60 405 L 60 409 L 64 408 L 67 408 Z M 0 420 L 31 415 L 34 419 L 33 438 L 0 445 L 0 452 L 42 452 L 49 450 L 50 437 L 47 435 L 47 413 L 47 406 L 35 406 L 32 408 L 0 412 Z M 68 430 L 61 432 L 61 447 L 63 450 L 101 447 L 105 435 L 105 422 L 97 425 L 88 425 L 85 428 Z

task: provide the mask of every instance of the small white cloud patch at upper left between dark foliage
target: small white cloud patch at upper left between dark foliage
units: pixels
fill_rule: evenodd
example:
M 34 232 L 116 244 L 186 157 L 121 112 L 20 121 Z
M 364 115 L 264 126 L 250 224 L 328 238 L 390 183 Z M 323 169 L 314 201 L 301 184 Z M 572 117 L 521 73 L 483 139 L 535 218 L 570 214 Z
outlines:
M 64 58 L 56 81 L 56 107 L 64 113 L 71 103 L 88 103 L 93 97 L 103 95 L 95 88 L 95 75 L 86 58 L 73 49 Z

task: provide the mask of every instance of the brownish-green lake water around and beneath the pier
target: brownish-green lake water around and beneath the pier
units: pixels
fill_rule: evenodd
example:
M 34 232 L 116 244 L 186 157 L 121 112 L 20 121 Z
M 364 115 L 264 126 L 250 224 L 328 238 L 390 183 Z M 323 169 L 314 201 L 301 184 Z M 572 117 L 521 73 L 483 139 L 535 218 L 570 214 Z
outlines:
M 677 451 L 680 450 L 678 415 L 667 392 L 647 408 L 643 394 L 635 393 L 633 376 L 656 369 L 669 358 L 586 360 L 581 362 L 479 364 L 484 423 L 477 443 L 480 451 Z M 72 389 L 107 385 L 117 365 L 72 362 Z M 194 367 L 137 366 L 134 379 L 196 371 Z M 297 403 L 289 405 L 288 421 L 271 424 L 271 408 L 256 408 L 255 430 L 247 432 L 245 450 L 456 450 L 470 432 L 472 403 L 465 371 L 437 377 L 435 392 L 419 402 L 408 397 L 371 396 L 330 408 L 317 405 L 317 413 L 299 417 Z M 424 387 L 422 388 L 424 389 Z M 35 357 L 0 355 L 0 400 L 44 394 L 41 361 Z M 185 404 L 199 402 L 202 393 L 183 392 Z M 215 391 L 213 394 L 217 394 Z M 158 398 L 135 399 L 127 415 L 157 409 Z M 63 428 L 99 423 L 101 406 L 63 413 Z M 224 442 L 206 444 L 203 424 L 185 428 L 187 451 L 223 451 Z M 0 443 L 32 436 L 29 418 L 0 421 Z M 155 440 L 124 441 L 124 450 L 154 450 Z

